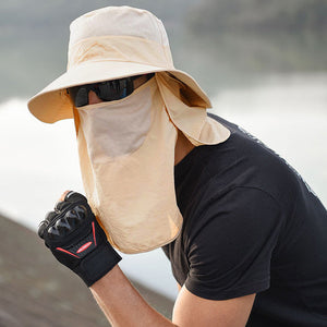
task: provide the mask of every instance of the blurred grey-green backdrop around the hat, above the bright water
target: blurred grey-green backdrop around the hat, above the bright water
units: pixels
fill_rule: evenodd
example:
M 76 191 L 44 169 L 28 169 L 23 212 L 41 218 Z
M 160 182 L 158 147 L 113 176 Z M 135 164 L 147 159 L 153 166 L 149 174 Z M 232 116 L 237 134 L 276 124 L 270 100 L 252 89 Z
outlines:
M 326 71 L 326 0 L 11 0 L 0 3 L 0 100 L 31 97 L 65 71 L 72 20 L 121 4 L 162 20 L 175 66 L 209 95 L 270 73 Z

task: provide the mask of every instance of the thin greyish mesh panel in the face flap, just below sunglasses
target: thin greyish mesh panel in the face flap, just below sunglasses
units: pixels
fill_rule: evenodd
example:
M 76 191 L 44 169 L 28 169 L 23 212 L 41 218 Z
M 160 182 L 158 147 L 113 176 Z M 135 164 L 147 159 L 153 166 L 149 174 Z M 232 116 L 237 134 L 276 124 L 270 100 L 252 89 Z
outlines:
M 78 109 L 93 162 L 106 164 L 108 157 L 130 154 L 143 144 L 152 123 L 152 97 L 141 90 L 122 100 Z

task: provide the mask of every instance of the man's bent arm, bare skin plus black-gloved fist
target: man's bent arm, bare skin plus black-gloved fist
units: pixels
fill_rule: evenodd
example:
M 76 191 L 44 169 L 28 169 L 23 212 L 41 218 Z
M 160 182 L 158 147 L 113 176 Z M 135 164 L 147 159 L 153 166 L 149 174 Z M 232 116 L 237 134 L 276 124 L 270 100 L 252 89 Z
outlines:
M 40 223 L 38 234 L 55 257 L 77 274 L 113 326 L 244 326 L 254 295 L 227 301 L 195 296 L 183 287 L 172 322 L 156 312 L 120 270 L 121 257 L 109 244 L 87 199 L 68 192 Z

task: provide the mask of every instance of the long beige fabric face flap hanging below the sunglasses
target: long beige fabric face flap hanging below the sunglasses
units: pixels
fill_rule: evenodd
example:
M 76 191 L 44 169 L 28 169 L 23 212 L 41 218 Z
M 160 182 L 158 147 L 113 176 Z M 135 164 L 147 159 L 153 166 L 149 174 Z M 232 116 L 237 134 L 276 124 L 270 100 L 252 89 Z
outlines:
M 131 126 L 132 119 L 125 119 L 134 105 L 141 110 L 140 120 L 145 119 L 140 129 L 140 120 Z M 108 240 L 124 253 L 146 252 L 171 242 L 182 226 L 173 178 L 177 129 L 165 110 L 156 80 L 122 100 L 86 107 L 77 109 L 82 178 Z M 120 110 L 121 117 L 114 110 Z M 138 119 L 136 112 L 131 114 Z M 128 137 L 130 145 L 120 140 L 129 131 L 133 134 Z

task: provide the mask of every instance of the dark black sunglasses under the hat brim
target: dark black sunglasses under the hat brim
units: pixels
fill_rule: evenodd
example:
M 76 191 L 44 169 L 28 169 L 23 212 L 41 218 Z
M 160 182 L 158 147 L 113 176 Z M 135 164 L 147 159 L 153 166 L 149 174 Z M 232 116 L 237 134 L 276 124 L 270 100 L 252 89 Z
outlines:
M 75 107 L 88 105 L 88 93 L 93 90 L 102 101 L 114 101 L 128 97 L 134 90 L 133 81 L 142 75 L 100 83 L 84 84 L 68 89 Z M 147 80 L 154 74 L 147 74 Z

